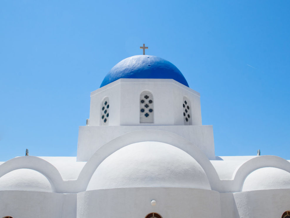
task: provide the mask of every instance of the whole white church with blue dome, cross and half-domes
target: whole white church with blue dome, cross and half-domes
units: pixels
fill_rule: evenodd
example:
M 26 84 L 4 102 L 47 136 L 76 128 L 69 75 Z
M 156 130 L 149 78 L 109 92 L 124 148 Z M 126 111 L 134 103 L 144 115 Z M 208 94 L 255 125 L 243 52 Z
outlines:
M 290 218 L 290 162 L 215 156 L 172 63 L 128 57 L 90 97 L 76 157 L 0 163 L 0 218 Z

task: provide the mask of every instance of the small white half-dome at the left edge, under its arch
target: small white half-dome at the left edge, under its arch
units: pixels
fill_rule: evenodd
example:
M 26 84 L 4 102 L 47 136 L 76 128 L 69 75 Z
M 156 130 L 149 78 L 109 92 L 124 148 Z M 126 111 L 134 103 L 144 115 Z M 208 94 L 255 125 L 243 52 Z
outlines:
M 0 191 L 2 190 L 52 192 L 48 179 L 31 169 L 17 169 L 1 176 Z

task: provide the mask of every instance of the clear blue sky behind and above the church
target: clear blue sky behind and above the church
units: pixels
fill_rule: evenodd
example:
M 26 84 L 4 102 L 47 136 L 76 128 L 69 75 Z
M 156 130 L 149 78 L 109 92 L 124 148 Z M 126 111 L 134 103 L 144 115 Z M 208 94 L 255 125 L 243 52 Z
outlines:
M 76 156 L 90 92 L 120 60 L 176 65 L 217 156 L 290 159 L 290 1 L 0 1 L 0 160 Z

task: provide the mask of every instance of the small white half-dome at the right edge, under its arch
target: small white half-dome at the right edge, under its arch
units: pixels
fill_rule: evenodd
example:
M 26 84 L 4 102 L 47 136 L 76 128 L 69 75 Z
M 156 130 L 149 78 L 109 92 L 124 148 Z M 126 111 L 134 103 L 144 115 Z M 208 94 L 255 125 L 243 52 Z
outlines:
M 244 181 L 243 191 L 264 189 L 290 189 L 290 173 L 274 167 L 264 167 L 250 173 Z

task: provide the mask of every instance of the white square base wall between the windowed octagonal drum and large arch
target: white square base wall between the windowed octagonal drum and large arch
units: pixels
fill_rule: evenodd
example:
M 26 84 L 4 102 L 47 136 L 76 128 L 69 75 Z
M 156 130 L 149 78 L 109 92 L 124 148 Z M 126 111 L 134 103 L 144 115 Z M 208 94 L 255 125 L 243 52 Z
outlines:
M 183 122 L 183 121 L 182 121 Z M 98 148 L 108 143 L 114 138 L 123 136 L 126 133 L 137 130 L 161 130 L 166 132 L 175 133 L 178 136 L 184 137 L 186 140 L 193 143 L 200 148 L 209 159 L 214 159 L 214 136 L 211 125 L 158 125 L 158 126 L 80 126 L 78 135 L 78 161 L 87 161 Z M 157 138 L 151 135 L 144 135 L 144 141 L 160 141 L 166 142 L 165 136 L 162 133 Z M 174 136 L 171 136 L 174 137 Z M 139 142 L 140 136 L 136 134 L 132 138 L 130 135 L 131 143 Z M 133 140 L 133 141 L 132 141 Z

